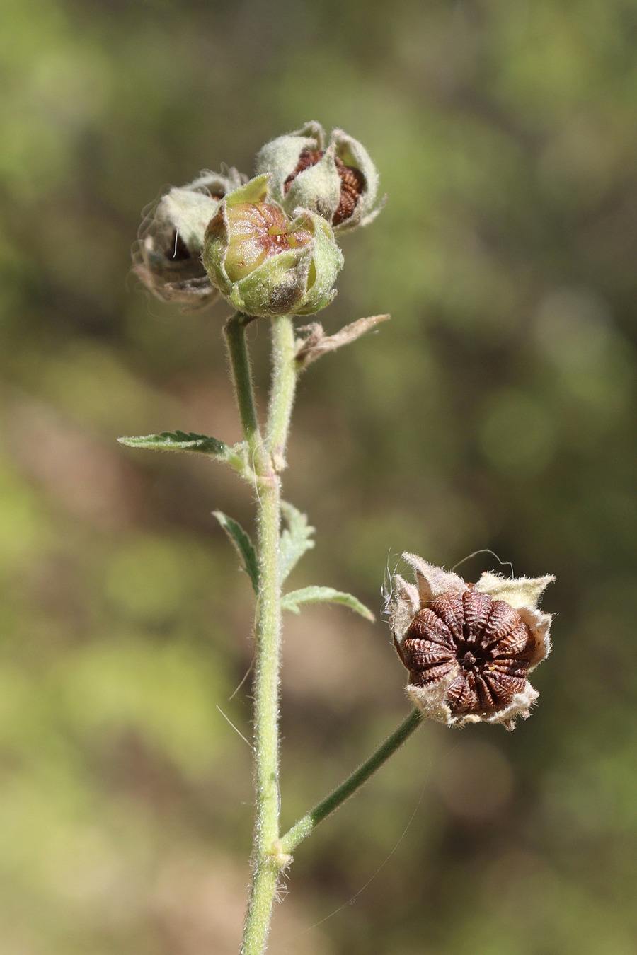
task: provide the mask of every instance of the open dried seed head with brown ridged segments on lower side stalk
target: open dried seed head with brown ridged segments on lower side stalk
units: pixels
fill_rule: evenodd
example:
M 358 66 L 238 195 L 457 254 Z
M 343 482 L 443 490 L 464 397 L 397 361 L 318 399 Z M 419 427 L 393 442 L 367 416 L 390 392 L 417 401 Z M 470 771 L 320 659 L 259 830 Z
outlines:
M 390 622 L 408 695 L 449 726 L 486 721 L 513 730 L 539 695 L 526 676 L 550 650 L 551 616 L 538 603 L 554 578 L 484 573 L 466 584 L 414 554 L 403 558 L 417 586 L 394 576 Z

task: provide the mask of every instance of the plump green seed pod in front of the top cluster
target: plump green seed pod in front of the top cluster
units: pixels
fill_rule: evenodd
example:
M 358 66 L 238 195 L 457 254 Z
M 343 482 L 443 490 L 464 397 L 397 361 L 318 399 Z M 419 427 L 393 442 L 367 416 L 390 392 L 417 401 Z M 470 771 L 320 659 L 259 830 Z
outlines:
M 329 227 L 308 209 L 290 220 L 266 202 L 258 176 L 220 202 L 205 230 L 203 265 L 213 286 L 248 315 L 312 315 L 325 308 L 343 256 Z

